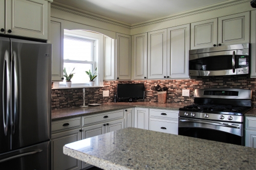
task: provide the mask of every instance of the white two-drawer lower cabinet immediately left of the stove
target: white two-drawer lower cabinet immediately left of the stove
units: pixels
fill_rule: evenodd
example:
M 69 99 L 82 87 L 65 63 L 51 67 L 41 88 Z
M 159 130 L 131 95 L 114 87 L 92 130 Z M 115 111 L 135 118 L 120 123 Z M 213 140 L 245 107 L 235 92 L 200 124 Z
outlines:
M 178 135 L 178 110 L 150 109 L 150 129 Z

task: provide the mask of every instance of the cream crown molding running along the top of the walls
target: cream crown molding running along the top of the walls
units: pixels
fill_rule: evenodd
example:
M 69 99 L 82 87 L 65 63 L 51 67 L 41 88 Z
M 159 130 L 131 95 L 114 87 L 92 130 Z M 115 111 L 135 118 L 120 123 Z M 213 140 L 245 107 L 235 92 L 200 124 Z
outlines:
M 91 12 L 88 12 L 88 11 L 84 11 L 84 10 L 74 8 L 74 7 L 71 7 L 71 6 L 68 6 L 68 5 L 65 5 L 65 4 L 61 4 L 61 3 L 58 3 L 58 2 L 53 2 L 51 4 L 51 8 L 61 10 L 61 11 L 65 11 L 65 12 L 68 12 L 68 13 L 72 13 L 72 14 L 75 14 L 75 15 L 87 17 L 87 18 L 90 18 L 90 19 L 98 20 L 98 21 L 101 21 L 101 22 L 110 23 L 112 25 L 123 27 L 123 28 L 126 28 L 126 29 L 135 29 L 135 28 L 139 28 L 139 27 L 152 25 L 152 24 L 155 24 L 155 23 L 165 22 L 165 21 L 169 21 L 169 20 L 173 20 L 173 19 L 177 19 L 177 18 L 182 18 L 182 17 L 186 17 L 186 16 L 191 16 L 191 15 L 196 15 L 196 14 L 205 13 L 205 12 L 209 12 L 209 11 L 214 11 L 214 10 L 227 8 L 227 7 L 234 6 L 234 5 L 244 4 L 244 3 L 248 3 L 250 1 L 251 0 L 228 0 L 228 1 L 225 1 L 225 2 L 216 3 L 216 4 L 212 4 L 212 5 L 192 9 L 192 10 L 187 10 L 187 11 L 175 13 L 175 14 L 172 14 L 172 15 L 167 15 L 167 16 L 151 19 L 151 20 L 146 20 L 146 21 L 143 21 L 143 22 L 133 23 L 133 24 L 122 22 L 122 21 L 119 21 L 119 20 L 116 20 L 116 19 L 112 19 L 112 18 L 109 18 L 109 17 L 105 17 L 105 16 L 102 16 L 102 15 L 91 13 Z

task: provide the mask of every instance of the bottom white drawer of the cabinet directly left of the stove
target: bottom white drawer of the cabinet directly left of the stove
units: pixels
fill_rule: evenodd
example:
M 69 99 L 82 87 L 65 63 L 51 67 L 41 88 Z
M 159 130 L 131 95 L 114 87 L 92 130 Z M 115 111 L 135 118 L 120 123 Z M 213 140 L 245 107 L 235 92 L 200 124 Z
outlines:
M 178 120 L 150 118 L 150 130 L 178 135 Z

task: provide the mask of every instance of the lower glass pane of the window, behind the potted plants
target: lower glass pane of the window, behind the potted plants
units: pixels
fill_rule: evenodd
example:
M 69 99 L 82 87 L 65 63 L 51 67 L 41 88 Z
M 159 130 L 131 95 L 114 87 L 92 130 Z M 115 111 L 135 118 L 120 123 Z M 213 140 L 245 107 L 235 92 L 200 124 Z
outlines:
M 73 83 L 88 83 L 90 81 L 88 75 L 86 74 L 86 71 L 89 71 L 89 69 L 92 70 L 92 64 L 80 64 L 80 63 L 64 63 L 64 68 L 66 68 L 67 74 L 69 75 L 70 72 L 74 69 L 74 76 L 71 79 L 72 84 Z M 66 79 L 64 79 L 66 80 Z M 63 83 L 66 83 L 66 81 L 63 81 Z

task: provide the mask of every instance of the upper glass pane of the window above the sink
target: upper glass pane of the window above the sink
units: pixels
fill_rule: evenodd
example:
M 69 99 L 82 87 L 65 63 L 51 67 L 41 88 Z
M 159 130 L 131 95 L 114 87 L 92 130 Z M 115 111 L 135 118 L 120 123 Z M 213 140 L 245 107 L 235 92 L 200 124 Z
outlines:
M 92 61 L 92 42 L 64 38 L 64 59 Z

